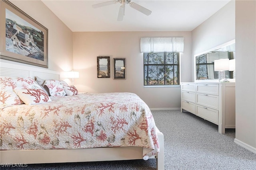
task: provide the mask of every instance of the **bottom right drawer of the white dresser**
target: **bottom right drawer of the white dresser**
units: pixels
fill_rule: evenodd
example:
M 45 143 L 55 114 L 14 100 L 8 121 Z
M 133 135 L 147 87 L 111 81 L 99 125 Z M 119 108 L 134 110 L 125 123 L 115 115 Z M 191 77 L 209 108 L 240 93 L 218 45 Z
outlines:
M 196 105 L 196 115 L 218 125 L 218 110 Z

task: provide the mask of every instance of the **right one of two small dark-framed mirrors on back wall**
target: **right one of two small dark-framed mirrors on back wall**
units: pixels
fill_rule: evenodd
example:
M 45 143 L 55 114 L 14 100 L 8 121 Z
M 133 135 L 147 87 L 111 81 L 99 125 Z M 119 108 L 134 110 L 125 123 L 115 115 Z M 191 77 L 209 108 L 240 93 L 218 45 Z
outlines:
M 114 58 L 114 79 L 126 79 L 125 58 Z

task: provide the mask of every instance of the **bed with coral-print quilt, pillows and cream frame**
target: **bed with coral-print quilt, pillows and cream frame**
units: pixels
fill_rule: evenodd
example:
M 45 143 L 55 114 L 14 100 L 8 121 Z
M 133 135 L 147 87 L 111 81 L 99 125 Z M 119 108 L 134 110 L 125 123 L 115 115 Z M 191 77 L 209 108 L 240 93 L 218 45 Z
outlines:
M 149 107 L 136 94 L 78 93 L 74 86 L 62 80 L 40 83 L 39 77 L 37 81 L 0 77 L 0 104 L 0 162 L 161 158 L 157 168 L 164 167 L 163 135 Z M 108 158 L 74 158 L 88 149 L 94 154 L 106 152 Z M 112 156 L 111 150 L 103 149 L 120 151 Z M 135 151 L 130 153 L 130 149 Z M 61 153 L 72 158 L 54 159 L 55 154 Z M 22 155 L 27 159 L 21 158 Z M 38 155 L 40 160 L 34 158 Z

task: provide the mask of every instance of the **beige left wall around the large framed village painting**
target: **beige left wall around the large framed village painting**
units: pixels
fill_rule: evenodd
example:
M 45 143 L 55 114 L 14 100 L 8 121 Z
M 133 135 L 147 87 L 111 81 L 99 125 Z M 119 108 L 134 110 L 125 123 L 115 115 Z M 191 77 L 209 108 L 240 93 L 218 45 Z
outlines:
M 10 0 L 34 20 L 38 21 L 48 29 L 48 60 L 49 70 L 70 71 L 73 67 L 73 40 L 72 31 L 42 1 L 31 0 Z M 7 60 L 0 60 L 1 64 L 14 63 Z

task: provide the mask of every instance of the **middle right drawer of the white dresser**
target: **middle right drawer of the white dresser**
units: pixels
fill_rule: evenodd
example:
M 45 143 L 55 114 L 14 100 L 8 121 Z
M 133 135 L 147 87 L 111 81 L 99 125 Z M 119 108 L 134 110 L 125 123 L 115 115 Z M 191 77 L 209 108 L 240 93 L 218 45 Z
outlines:
M 218 110 L 219 109 L 219 96 L 197 93 L 196 94 L 196 104 Z

